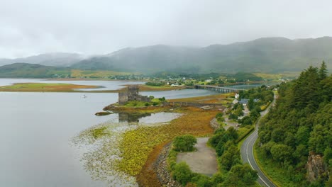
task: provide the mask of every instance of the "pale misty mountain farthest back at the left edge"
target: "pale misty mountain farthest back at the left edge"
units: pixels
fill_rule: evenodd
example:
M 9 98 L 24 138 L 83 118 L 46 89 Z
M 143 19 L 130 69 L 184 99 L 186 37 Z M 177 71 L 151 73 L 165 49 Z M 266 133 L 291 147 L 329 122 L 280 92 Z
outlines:
M 83 59 L 84 57 L 77 53 L 54 52 L 25 58 L 0 59 L 0 66 L 13 63 L 28 63 L 55 67 L 69 67 L 70 65 L 77 63 Z

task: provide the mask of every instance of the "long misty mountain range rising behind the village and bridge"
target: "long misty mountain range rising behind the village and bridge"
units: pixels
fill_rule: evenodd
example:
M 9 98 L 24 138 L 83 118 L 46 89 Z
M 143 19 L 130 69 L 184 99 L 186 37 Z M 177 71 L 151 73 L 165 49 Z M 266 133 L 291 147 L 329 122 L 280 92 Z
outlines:
M 125 48 L 84 59 L 75 69 L 126 72 L 284 72 L 301 71 L 322 60 L 332 62 L 332 38 L 289 40 L 260 38 L 249 42 L 208 47 L 153 45 Z

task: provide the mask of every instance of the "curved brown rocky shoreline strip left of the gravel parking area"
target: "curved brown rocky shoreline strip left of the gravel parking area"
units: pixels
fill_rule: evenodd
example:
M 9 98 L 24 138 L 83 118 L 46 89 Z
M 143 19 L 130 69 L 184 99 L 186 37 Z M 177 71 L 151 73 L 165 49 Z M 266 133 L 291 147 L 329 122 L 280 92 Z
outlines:
M 157 178 L 162 184 L 162 186 L 167 187 L 181 187 L 181 184 L 175 181 L 170 172 L 167 170 L 167 157 L 170 153 L 171 143 L 165 145 L 162 148 L 162 151 L 159 154 L 156 162 L 153 164 L 153 169 L 155 170 L 155 174 L 157 174 Z

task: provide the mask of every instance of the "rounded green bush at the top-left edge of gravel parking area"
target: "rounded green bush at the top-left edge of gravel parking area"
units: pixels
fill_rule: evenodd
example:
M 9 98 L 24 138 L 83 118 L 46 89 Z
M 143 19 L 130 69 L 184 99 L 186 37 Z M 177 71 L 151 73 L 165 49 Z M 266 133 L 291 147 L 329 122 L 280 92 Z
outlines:
M 197 143 L 196 137 L 192 135 L 182 135 L 175 137 L 173 142 L 174 149 L 178 152 L 190 152 Z

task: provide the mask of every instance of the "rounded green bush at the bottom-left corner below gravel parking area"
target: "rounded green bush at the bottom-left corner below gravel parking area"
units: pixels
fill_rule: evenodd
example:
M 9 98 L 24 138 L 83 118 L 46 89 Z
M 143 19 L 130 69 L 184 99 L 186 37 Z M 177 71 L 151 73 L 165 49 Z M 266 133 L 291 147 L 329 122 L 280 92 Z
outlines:
M 182 186 L 185 186 L 192 180 L 192 171 L 190 171 L 189 166 L 185 162 L 180 162 L 174 167 L 173 178 L 182 183 Z

